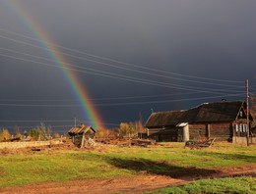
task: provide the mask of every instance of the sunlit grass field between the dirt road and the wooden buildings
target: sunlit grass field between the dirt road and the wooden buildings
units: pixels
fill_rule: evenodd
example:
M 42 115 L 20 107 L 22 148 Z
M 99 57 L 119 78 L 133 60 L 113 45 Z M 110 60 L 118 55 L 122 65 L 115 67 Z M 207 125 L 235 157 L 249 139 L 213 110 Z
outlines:
M 256 164 L 256 146 L 218 143 L 212 148 L 190 150 L 184 149 L 183 145 L 165 143 L 148 148 L 100 145 L 94 149 L 45 149 L 40 152 L 1 155 L 0 187 L 82 177 L 129 177 L 145 173 L 170 177 L 193 173 L 211 174 L 218 170 Z M 256 184 L 255 178 L 251 178 Z M 203 183 L 202 180 L 195 184 L 200 187 Z

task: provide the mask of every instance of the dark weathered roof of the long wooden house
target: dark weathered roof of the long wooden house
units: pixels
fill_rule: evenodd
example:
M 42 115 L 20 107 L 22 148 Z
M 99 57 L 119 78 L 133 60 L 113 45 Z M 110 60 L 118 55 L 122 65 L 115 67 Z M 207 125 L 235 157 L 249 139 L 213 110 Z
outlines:
M 245 106 L 244 101 L 222 101 L 204 103 L 187 111 L 153 113 L 145 126 L 170 126 L 181 122 L 235 121 L 243 106 Z

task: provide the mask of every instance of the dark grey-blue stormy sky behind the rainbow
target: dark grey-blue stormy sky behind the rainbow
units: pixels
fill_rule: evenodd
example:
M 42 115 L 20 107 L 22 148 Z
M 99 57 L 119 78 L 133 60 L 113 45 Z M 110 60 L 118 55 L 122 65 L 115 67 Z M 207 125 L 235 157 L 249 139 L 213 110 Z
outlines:
M 77 106 L 50 106 L 79 102 L 60 70 L 35 63 L 52 59 L 24 37 L 36 38 L 7 2 L 0 1 L 0 127 L 90 123 Z M 77 76 L 107 127 L 139 115 L 146 121 L 152 110 L 244 100 L 246 78 L 256 93 L 254 0 L 10 2 L 62 46 L 69 63 L 101 71 Z

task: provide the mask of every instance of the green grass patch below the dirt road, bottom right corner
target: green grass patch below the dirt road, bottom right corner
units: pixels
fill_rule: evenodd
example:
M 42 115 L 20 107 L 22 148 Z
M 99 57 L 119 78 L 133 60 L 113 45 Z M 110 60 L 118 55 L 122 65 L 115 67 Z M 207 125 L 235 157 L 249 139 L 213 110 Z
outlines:
M 198 193 L 256 193 L 256 177 L 243 176 L 234 178 L 219 178 L 197 180 L 183 186 L 158 189 L 148 194 L 198 194 Z

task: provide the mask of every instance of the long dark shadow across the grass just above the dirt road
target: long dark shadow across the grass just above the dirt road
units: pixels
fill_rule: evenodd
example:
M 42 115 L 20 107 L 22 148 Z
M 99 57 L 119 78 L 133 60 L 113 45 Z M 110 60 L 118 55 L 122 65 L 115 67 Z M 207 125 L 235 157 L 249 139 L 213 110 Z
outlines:
M 125 170 L 134 170 L 138 172 L 147 172 L 151 174 L 166 175 L 173 178 L 185 176 L 211 176 L 218 173 L 218 170 L 197 169 L 194 167 L 178 167 L 167 164 L 166 162 L 156 162 L 147 159 L 120 159 L 105 158 L 110 165 Z

